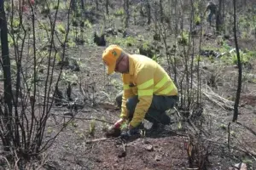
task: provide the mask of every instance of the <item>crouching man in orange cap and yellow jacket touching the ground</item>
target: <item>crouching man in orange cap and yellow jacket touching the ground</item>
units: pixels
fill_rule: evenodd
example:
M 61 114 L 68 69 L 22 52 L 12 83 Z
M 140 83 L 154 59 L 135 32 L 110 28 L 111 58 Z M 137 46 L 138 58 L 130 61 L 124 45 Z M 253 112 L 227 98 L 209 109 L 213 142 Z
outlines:
M 117 45 L 106 48 L 102 59 L 108 75 L 119 72 L 123 79 L 124 91 L 116 98 L 121 107 L 120 119 L 113 128 L 128 120 L 128 135 L 132 135 L 144 118 L 153 122 L 153 127 L 170 124 L 166 111 L 177 102 L 177 88 L 159 64 L 140 54 L 127 54 Z

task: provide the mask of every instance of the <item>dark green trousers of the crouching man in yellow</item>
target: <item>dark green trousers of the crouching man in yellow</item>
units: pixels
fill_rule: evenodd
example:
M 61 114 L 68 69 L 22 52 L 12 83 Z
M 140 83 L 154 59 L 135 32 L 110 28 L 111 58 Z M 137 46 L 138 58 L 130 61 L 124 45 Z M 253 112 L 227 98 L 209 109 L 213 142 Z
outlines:
M 116 97 L 116 102 L 121 107 L 123 92 Z M 126 108 L 128 110 L 129 119 L 132 119 L 137 103 L 139 102 L 137 96 L 133 96 L 126 101 Z M 177 102 L 177 96 L 160 96 L 154 95 L 152 103 L 146 113 L 145 119 L 153 123 L 170 124 L 171 119 L 166 115 L 166 111 L 171 109 Z

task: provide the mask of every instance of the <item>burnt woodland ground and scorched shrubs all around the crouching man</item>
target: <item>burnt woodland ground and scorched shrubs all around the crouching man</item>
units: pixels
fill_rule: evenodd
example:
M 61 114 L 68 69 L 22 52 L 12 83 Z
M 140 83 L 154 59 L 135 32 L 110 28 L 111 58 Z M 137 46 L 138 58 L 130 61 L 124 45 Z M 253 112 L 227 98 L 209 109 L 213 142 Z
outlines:
M 1 1 L 0 168 L 255 169 L 255 2 L 213 2 L 210 25 L 207 0 Z M 110 44 L 170 74 L 172 125 L 105 138 L 122 90 Z

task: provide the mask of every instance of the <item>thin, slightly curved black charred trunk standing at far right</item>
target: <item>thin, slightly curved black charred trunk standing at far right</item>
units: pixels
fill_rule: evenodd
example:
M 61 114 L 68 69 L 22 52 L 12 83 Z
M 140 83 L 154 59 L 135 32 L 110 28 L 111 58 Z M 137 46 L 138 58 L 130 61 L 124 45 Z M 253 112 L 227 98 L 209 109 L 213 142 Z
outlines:
M 239 53 L 239 47 L 237 42 L 237 36 L 236 36 L 236 0 L 233 0 L 234 5 L 234 37 L 235 37 L 235 43 L 236 43 L 236 57 L 237 57 L 237 65 L 238 65 L 238 85 L 236 90 L 236 100 L 234 105 L 234 116 L 233 116 L 233 122 L 237 121 L 238 116 L 238 105 L 240 100 L 240 94 L 241 94 L 241 60 L 240 60 L 240 53 Z

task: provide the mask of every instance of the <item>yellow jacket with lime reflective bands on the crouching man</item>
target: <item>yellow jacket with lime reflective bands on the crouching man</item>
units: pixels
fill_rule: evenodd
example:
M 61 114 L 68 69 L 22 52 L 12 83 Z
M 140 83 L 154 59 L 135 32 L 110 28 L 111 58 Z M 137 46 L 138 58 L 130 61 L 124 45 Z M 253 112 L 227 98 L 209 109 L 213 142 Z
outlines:
M 129 73 L 122 74 L 124 94 L 122 98 L 121 117 L 127 118 L 126 100 L 137 95 L 139 102 L 130 122 L 137 127 L 150 107 L 153 94 L 177 95 L 177 88 L 166 71 L 153 59 L 139 54 L 129 55 Z

